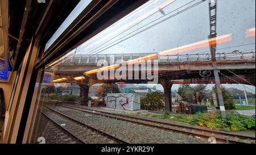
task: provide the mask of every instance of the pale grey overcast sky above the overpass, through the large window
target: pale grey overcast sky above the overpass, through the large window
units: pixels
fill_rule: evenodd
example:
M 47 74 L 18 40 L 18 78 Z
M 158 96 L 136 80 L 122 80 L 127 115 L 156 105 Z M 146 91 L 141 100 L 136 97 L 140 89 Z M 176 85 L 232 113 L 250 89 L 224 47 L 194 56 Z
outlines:
M 182 45 L 195 43 L 196 41 L 205 40 L 209 35 L 209 8 L 208 1 L 201 3 L 187 11 L 181 12 L 180 14 L 160 23 L 152 28 L 149 28 L 146 31 L 139 33 L 110 47 L 104 51 L 105 45 L 108 45 L 115 41 L 121 41 L 125 39 L 125 35 L 141 28 L 142 26 L 149 27 L 152 24 L 150 22 L 156 20 L 159 17 L 162 19 L 167 18 L 168 16 L 174 15 L 177 12 L 192 6 L 193 4 L 200 2 L 192 1 L 192 0 L 177 0 L 170 5 L 166 6 L 162 11 L 156 11 L 155 14 L 152 14 L 147 19 L 142 18 L 142 20 L 138 20 L 138 24 L 136 24 L 130 30 L 126 32 L 118 31 L 125 27 L 130 22 L 133 22 L 135 19 L 140 18 L 146 12 L 157 8 L 162 5 L 165 0 L 159 0 L 152 4 L 152 1 L 148 2 L 151 5 L 147 6 L 143 11 L 135 14 L 131 18 L 125 20 L 121 24 L 113 26 L 109 30 L 101 33 L 97 37 L 94 37 L 92 41 L 87 41 L 88 44 L 81 45 L 77 51 L 83 54 L 86 53 L 149 53 L 149 52 L 160 52 L 166 49 L 176 48 Z M 192 2 L 192 3 L 189 3 Z M 189 3 L 189 5 L 186 5 Z M 184 7 L 181 7 L 185 5 Z M 180 9 L 178 9 L 181 7 Z M 176 10 L 178 9 L 178 10 Z M 172 12 L 174 11 L 174 12 Z M 168 14 L 172 12 L 171 14 Z M 168 15 L 167 15 L 168 14 Z M 160 21 L 157 20 L 156 22 Z M 141 22 L 141 23 L 139 23 Z M 144 27 L 144 28 L 146 28 Z M 236 45 L 250 44 L 255 43 L 255 37 L 245 38 L 245 32 L 248 28 L 255 27 L 255 1 L 251 0 L 219 0 L 217 6 L 217 35 L 225 35 L 227 33 L 232 33 L 233 40 L 229 43 L 219 44 L 217 48 L 226 48 L 233 47 Z M 143 30 L 139 29 L 139 31 Z M 115 33 L 117 32 L 117 33 Z M 138 32 L 138 31 L 136 31 Z M 131 33 L 134 34 L 136 32 Z M 121 35 L 119 35 L 121 33 Z M 112 35 L 113 34 L 113 35 Z M 108 36 L 109 37 L 106 37 Z M 106 44 L 106 41 L 112 39 L 113 37 L 119 35 L 115 39 L 109 41 Z M 129 35 L 130 36 L 130 35 Z M 113 44 L 114 44 L 113 43 Z M 95 44 L 95 45 L 94 45 Z M 110 45 L 113 45 L 110 44 Z M 107 47 L 109 47 L 108 45 Z M 88 48 L 89 47 L 89 48 Z M 106 47 L 106 48 L 107 48 Z M 97 50 L 93 50 L 97 48 Z M 102 49 L 101 49 L 102 48 Z M 100 50 L 99 50 L 100 49 Z M 245 45 L 236 48 L 229 48 L 225 50 L 220 50 L 217 52 L 232 52 L 234 50 L 250 50 L 255 49 L 255 44 Z M 202 48 L 197 51 L 189 51 L 188 53 L 198 53 L 209 51 L 209 48 Z M 187 53 L 187 52 L 186 52 Z

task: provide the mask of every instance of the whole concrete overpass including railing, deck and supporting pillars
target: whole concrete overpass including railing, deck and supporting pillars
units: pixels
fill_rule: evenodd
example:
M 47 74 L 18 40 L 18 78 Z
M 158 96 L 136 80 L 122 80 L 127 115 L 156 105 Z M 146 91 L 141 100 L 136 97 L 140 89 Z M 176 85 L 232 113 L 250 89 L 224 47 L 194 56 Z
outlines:
M 69 55 L 60 60 L 59 65 L 47 69 L 55 72 L 55 79 L 65 78 L 68 83 L 77 83 L 81 87 L 80 96 L 86 104 L 89 86 L 95 83 L 148 83 L 150 79 L 142 79 L 144 70 L 138 70 L 139 79 L 102 79 L 98 80 L 95 74 L 85 74 L 90 70 L 98 69 L 98 60 L 129 61 L 152 55 L 152 53 L 134 53 L 117 55 Z M 213 61 L 210 53 L 198 53 L 190 55 L 158 56 L 158 83 L 164 88 L 166 103 L 171 102 L 171 87 L 175 83 L 215 83 L 213 75 Z M 216 53 L 215 61 L 221 83 L 244 83 L 255 86 L 255 51 Z M 133 68 L 134 69 L 134 68 Z M 133 70 L 135 73 L 137 70 Z M 154 71 L 154 70 L 153 70 Z M 152 72 L 153 72 L 152 71 Z M 128 75 L 128 74 L 127 74 Z M 84 76 L 80 81 L 74 77 Z M 88 85 L 85 85 L 88 83 Z M 167 107 L 168 108 L 168 107 Z

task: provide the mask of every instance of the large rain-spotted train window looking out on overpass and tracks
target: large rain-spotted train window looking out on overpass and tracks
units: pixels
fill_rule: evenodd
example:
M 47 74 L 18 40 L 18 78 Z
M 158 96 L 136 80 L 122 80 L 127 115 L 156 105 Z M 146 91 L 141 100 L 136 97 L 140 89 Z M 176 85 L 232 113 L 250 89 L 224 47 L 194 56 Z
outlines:
M 148 1 L 43 72 L 30 143 L 255 143 L 255 1 Z

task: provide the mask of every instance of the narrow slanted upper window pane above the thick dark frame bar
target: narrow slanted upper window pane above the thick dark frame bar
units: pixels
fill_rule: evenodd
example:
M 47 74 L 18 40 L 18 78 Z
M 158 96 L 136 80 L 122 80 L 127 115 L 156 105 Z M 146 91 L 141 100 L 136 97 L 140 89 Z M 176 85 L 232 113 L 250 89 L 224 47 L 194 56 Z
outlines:
M 86 6 L 89 5 L 89 3 L 92 2 L 92 0 L 81 0 L 75 9 L 68 15 L 68 17 L 64 20 L 64 22 L 61 24 L 61 26 L 57 29 L 57 31 L 53 34 L 53 36 L 48 40 L 46 43 L 46 47 L 44 48 L 44 51 L 46 51 L 53 43 L 54 41 L 63 33 L 68 26 L 79 16 L 79 14 L 86 8 Z

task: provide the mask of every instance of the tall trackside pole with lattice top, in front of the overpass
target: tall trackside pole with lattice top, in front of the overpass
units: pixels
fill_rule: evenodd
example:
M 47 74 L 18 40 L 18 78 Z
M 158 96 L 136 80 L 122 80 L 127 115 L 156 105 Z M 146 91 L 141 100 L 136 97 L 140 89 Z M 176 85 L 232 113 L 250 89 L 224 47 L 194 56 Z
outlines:
M 212 66 L 213 66 L 213 73 L 215 78 L 215 86 L 217 89 L 218 94 L 218 102 L 221 111 L 221 118 L 226 120 L 226 112 L 224 106 L 224 100 L 222 96 L 221 86 L 220 86 L 220 77 L 218 75 L 219 70 L 216 66 L 216 17 L 217 17 L 217 0 L 210 0 L 209 1 L 209 15 L 210 15 L 210 35 L 209 38 L 209 46 L 210 46 L 210 54 L 212 56 Z

